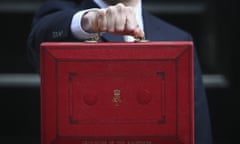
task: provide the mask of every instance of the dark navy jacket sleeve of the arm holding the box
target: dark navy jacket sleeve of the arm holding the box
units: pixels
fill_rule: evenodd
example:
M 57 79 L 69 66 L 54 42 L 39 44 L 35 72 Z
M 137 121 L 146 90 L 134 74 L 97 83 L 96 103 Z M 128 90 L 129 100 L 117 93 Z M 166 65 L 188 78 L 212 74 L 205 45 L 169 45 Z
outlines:
M 77 41 L 70 31 L 72 16 L 79 10 L 77 7 L 76 1 L 50 0 L 35 13 L 27 40 L 27 51 L 38 73 L 41 42 Z

